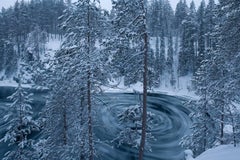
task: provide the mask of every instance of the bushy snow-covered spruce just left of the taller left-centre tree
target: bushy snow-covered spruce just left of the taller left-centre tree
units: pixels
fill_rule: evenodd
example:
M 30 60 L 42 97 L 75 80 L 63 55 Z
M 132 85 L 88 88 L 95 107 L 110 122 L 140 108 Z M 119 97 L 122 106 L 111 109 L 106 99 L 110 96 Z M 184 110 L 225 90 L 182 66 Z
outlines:
M 68 59 L 61 59 L 56 63 L 58 64 L 48 81 L 50 96 L 44 111 L 46 140 L 42 139 L 37 144 L 45 141 L 39 159 L 73 159 L 80 157 L 82 153 L 80 136 L 83 132 L 79 119 L 83 112 L 79 98 L 79 84 L 82 81 L 73 76 L 71 67 L 74 66 L 70 65 Z

